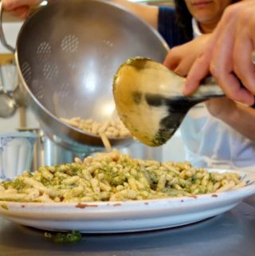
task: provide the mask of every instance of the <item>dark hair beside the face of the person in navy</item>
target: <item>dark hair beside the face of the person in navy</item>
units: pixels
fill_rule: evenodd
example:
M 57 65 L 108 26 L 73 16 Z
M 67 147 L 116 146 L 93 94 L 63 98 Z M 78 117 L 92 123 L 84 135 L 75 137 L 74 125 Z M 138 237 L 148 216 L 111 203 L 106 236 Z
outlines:
M 232 0 L 232 3 L 239 2 L 240 0 Z M 186 39 L 193 37 L 191 19 L 192 15 L 186 7 L 184 0 L 175 0 L 175 15 L 176 22 L 179 26 L 179 29 L 182 31 L 183 36 Z

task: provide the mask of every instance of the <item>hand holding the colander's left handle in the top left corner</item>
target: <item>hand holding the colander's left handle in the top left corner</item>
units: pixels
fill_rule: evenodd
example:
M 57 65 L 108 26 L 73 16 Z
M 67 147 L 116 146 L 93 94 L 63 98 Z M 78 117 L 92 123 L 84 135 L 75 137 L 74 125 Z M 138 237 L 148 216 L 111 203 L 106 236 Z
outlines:
M 3 9 L 19 18 L 26 18 L 29 15 L 31 6 L 36 6 L 42 0 L 2 0 Z

